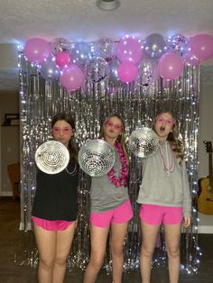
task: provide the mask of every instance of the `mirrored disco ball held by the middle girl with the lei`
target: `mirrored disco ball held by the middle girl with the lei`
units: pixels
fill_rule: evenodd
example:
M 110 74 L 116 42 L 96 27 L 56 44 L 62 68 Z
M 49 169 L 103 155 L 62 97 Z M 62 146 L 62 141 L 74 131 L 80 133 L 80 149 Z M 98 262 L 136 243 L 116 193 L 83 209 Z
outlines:
M 79 167 L 91 177 L 106 175 L 115 160 L 114 149 L 103 140 L 90 140 L 79 150 Z

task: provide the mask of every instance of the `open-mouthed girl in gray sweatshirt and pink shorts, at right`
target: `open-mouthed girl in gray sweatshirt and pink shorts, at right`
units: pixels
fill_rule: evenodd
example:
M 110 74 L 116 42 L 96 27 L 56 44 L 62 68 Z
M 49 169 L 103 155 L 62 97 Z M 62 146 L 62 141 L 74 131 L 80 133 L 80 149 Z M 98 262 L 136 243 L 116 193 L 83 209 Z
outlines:
M 159 137 L 159 148 L 144 161 L 143 179 L 137 202 L 143 233 L 141 274 L 150 283 L 151 261 L 161 224 L 164 227 L 171 283 L 180 274 L 181 224 L 190 225 L 190 187 L 178 140 L 177 121 L 170 112 L 159 114 L 153 130 Z

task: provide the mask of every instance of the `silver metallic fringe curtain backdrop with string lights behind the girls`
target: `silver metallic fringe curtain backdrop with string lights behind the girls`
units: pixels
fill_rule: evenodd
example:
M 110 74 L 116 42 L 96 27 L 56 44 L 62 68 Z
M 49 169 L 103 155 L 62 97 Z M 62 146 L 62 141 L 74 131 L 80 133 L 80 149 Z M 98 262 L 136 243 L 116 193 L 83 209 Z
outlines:
M 199 266 L 197 166 L 199 126 L 199 67 L 186 66 L 180 79 L 165 81 L 154 76 L 152 59 L 144 62 L 140 76 L 131 84 L 120 83 L 114 74 L 107 76 L 101 61 L 97 59 L 90 69 L 85 87 L 68 93 L 58 80 L 45 80 L 37 68 L 24 59 L 19 52 L 20 68 L 20 113 L 22 131 L 22 184 L 21 224 L 24 233 L 23 262 L 37 265 L 38 254 L 32 240 L 31 211 L 36 189 L 34 153 L 42 142 L 51 139 L 52 115 L 66 111 L 76 118 L 75 135 L 79 146 L 88 139 L 97 138 L 100 125 L 109 114 L 121 114 L 126 125 L 126 142 L 137 125 L 151 127 L 153 117 L 162 110 L 171 110 L 180 120 L 181 138 L 185 146 L 187 169 L 192 196 L 192 225 L 182 230 L 181 267 L 188 273 L 196 272 Z M 116 66 L 112 63 L 111 68 Z M 146 68 L 144 68 L 146 66 Z M 94 69 L 97 69 L 94 71 Z M 152 71 L 149 71 L 151 69 Z M 93 71 L 93 73 L 91 72 Z M 97 79 L 98 78 L 98 79 Z M 130 154 L 129 195 L 134 207 L 134 219 L 130 222 L 125 238 L 125 270 L 138 269 L 141 232 L 136 198 L 140 186 L 142 161 Z M 89 185 L 90 178 L 79 175 L 79 224 L 75 233 L 72 251 L 68 260 L 71 270 L 74 266 L 85 269 L 89 259 Z M 108 249 L 107 249 L 108 250 Z M 159 235 L 154 265 L 166 263 L 163 231 Z M 105 268 L 109 272 L 110 254 L 106 251 Z

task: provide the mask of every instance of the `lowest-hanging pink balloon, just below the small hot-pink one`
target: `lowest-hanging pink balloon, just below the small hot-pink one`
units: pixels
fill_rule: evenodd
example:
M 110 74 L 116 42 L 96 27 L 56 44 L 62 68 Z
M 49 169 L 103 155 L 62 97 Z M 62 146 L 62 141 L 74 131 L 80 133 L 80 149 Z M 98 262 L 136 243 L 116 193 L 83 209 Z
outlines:
M 78 65 L 69 64 L 68 67 L 63 68 L 60 82 L 67 90 L 74 91 L 83 86 L 84 74 Z

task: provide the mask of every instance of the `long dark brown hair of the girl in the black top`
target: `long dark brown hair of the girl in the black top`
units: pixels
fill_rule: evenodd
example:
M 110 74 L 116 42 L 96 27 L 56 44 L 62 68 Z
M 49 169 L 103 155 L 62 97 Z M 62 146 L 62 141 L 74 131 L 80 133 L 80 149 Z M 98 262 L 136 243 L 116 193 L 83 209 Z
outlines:
M 54 117 L 51 120 L 51 129 L 53 128 L 54 124 L 57 121 L 65 121 L 70 124 L 73 132 L 76 131 L 76 125 L 75 125 L 75 120 L 70 114 L 66 113 L 59 113 L 54 115 Z M 78 153 L 79 153 L 79 148 L 74 141 L 74 137 L 72 136 L 69 140 L 68 144 L 68 149 L 69 149 L 69 158 L 72 160 L 75 164 L 78 164 Z

